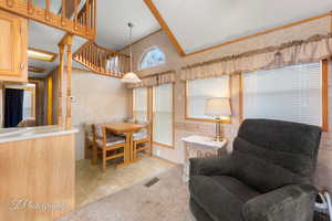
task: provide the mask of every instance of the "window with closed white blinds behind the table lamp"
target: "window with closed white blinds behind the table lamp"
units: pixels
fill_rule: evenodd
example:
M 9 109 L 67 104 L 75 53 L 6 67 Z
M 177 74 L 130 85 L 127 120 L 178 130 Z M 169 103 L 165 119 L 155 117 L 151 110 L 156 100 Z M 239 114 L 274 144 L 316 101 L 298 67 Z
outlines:
M 211 120 L 205 115 L 206 101 L 211 97 L 229 97 L 229 76 L 216 78 L 194 80 L 187 82 L 186 118 Z M 229 117 L 225 117 L 229 120 Z

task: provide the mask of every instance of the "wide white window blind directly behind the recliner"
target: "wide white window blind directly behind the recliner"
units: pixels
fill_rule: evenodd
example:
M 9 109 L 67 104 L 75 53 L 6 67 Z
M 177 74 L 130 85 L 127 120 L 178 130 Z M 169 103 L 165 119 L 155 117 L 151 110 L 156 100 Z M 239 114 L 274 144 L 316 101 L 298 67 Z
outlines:
M 243 118 L 322 125 L 320 63 L 257 71 L 242 76 Z

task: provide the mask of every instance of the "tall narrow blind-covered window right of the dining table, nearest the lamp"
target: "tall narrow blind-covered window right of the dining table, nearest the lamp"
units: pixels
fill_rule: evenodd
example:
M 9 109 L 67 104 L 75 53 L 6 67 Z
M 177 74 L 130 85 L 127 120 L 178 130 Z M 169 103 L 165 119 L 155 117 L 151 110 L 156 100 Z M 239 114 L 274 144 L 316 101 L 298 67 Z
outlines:
M 173 84 L 155 86 L 153 97 L 154 143 L 173 147 Z

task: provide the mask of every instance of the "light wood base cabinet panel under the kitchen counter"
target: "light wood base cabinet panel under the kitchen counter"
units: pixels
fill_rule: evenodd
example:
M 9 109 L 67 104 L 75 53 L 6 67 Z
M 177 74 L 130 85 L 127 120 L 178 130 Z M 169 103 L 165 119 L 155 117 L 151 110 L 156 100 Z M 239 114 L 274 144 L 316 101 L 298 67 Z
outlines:
M 65 133 L 0 144 L 1 221 L 52 221 L 74 209 L 75 135 Z

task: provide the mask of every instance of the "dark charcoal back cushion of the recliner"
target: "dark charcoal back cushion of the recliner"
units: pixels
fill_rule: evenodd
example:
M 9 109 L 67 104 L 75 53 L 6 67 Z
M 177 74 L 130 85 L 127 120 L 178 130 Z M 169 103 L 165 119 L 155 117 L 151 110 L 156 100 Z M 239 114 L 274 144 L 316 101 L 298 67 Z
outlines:
M 234 176 L 262 192 L 311 182 L 320 138 L 315 126 L 246 119 L 234 141 Z

